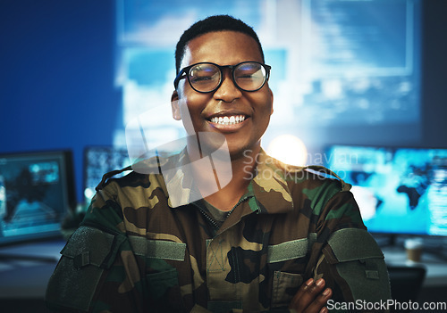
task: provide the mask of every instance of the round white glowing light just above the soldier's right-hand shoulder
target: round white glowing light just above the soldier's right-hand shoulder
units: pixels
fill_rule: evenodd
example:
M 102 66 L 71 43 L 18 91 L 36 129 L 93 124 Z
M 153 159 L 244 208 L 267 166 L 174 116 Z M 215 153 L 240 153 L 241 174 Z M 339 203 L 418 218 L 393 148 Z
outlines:
M 308 160 L 306 145 L 299 137 L 290 134 L 275 137 L 266 152 L 275 159 L 291 165 L 304 166 Z

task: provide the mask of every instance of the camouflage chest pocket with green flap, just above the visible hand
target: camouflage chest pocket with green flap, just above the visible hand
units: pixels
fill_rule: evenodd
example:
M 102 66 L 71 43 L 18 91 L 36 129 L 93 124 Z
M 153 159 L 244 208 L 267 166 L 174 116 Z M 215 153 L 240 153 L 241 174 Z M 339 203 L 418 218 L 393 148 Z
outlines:
M 268 247 L 267 262 L 280 263 L 292 259 L 304 258 L 316 242 L 316 234 L 309 234 L 308 238 L 302 238 L 285 243 L 270 245 Z M 281 265 L 275 264 L 275 268 Z M 272 308 L 280 308 L 289 305 L 291 298 L 298 291 L 303 283 L 303 276 L 295 273 L 288 273 L 287 268 L 283 271 L 274 271 L 272 284 Z

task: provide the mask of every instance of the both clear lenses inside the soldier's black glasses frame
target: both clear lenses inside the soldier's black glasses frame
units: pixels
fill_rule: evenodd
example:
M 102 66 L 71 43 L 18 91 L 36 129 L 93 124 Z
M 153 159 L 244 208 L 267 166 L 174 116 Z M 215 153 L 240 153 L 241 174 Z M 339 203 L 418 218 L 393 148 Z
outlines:
M 257 62 L 243 62 L 233 69 L 233 81 L 246 91 L 255 91 L 266 81 L 266 69 Z M 190 69 L 191 86 L 200 92 L 215 90 L 221 83 L 222 72 L 210 63 L 200 63 Z

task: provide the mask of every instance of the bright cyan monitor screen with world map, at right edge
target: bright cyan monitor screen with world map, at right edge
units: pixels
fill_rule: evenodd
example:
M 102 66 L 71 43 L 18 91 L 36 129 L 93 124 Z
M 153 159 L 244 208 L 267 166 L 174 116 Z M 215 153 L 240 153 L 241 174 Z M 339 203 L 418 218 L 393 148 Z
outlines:
M 447 149 L 333 145 L 326 166 L 352 185 L 371 233 L 447 235 Z

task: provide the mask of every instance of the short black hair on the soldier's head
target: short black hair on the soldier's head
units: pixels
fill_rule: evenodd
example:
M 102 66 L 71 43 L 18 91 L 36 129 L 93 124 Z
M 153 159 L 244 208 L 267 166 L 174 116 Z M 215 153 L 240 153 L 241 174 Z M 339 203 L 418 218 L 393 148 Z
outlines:
M 175 70 L 177 74 L 180 71 L 180 64 L 185 54 L 185 47 L 190 40 L 199 37 L 200 35 L 207 34 L 213 31 L 232 30 L 239 31 L 252 37 L 257 42 L 259 52 L 261 53 L 262 61 L 264 62 L 264 53 L 262 51 L 261 42 L 257 37 L 257 34 L 253 28 L 247 25 L 245 22 L 233 18 L 230 15 L 213 15 L 207 17 L 205 20 L 194 23 L 189 29 L 186 29 L 181 35 L 179 42 L 175 48 Z

